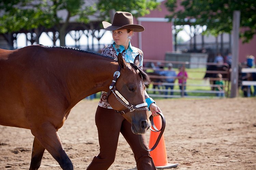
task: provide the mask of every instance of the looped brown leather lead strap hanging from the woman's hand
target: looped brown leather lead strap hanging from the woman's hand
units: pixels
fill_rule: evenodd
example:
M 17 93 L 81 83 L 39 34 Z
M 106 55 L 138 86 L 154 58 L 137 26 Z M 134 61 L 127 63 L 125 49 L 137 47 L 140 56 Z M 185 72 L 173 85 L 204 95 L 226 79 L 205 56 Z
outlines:
M 159 143 L 159 141 L 160 141 L 160 139 L 161 139 L 161 137 L 162 137 L 162 135 L 163 135 L 163 131 L 165 130 L 165 117 L 164 117 L 163 114 L 160 113 L 160 112 L 158 112 L 158 114 L 161 116 L 161 119 L 162 119 L 162 127 L 161 127 L 160 130 L 158 130 L 158 129 L 156 128 L 156 126 L 155 126 L 155 124 L 154 124 L 153 116 L 151 115 L 151 116 L 149 117 L 150 122 L 151 122 L 151 125 L 152 125 L 152 127 L 154 128 L 154 130 L 153 130 L 152 128 L 150 128 L 150 130 L 153 131 L 153 132 L 160 132 L 159 135 L 158 135 L 158 137 L 157 137 L 157 139 L 156 139 L 155 145 L 154 145 L 151 149 L 146 149 L 145 146 L 143 145 L 142 135 L 140 135 L 140 145 L 141 145 L 141 147 L 142 147 L 143 149 L 145 149 L 146 151 L 153 151 L 153 150 L 157 147 L 157 145 L 158 145 L 158 143 Z

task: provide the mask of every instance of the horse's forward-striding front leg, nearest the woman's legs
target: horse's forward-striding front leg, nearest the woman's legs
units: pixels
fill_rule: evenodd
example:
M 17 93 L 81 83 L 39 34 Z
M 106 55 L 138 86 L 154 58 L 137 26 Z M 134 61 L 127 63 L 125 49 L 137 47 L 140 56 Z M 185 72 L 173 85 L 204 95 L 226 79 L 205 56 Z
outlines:
M 40 126 L 31 129 L 31 133 L 38 139 L 42 147 L 57 160 L 63 170 L 74 169 L 71 160 L 62 147 L 59 134 L 53 124 L 49 122 L 42 123 Z

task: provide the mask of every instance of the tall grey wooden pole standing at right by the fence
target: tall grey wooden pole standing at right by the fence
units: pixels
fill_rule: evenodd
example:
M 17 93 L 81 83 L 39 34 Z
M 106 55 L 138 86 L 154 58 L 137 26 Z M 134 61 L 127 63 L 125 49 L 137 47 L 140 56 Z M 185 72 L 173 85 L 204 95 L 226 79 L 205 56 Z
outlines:
M 230 98 L 237 97 L 238 93 L 238 57 L 239 57 L 239 28 L 240 28 L 240 11 L 233 12 L 233 47 L 231 63 L 231 93 Z

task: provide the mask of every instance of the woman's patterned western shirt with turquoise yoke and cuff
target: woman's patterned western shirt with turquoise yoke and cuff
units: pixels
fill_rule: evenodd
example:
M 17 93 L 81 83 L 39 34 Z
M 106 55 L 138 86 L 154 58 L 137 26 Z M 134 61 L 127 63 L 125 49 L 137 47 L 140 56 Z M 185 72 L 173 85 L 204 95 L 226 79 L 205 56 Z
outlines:
M 136 48 L 136 47 L 132 47 L 131 43 L 129 42 L 129 46 L 128 49 L 125 50 L 124 46 L 119 46 L 116 45 L 115 42 L 111 45 L 109 45 L 108 47 L 106 47 L 103 51 L 102 51 L 102 55 L 106 55 L 106 56 L 111 56 L 117 59 L 117 56 L 119 53 L 122 53 L 122 56 L 124 58 L 124 60 L 127 63 L 133 63 L 135 57 L 140 54 L 139 57 L 139 68 L 142 69 L 142 63 L 143 63 L 143 52 Z M 145 92 L 145 100 L 148 104 L 148 107 L 151 103 L 155 102 L 152 98 L 150 98 L 148 96 L 148 94 Z M 112 109 L 112 107 L 110 106 L 110 104 L 106 101 L 106 97 L 107 97 L 108 92 L 102 91 L 101 93 L 101 97 L 100 97 L 100 102 L 99 102 L 99 106 L 103 107 L 103 108 L 110 108 Z

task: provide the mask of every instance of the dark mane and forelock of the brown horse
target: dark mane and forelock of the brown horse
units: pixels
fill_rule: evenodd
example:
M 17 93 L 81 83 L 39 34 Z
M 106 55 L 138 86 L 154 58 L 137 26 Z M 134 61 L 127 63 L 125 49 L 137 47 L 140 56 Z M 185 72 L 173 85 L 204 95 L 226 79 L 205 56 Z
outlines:
M 110 58 L 112 60 L 115 60 L 117 61 L 116 58 L 114 57 L 111 57 L 111 56 L 106 56 L 106 55 L 102 55 L 100 53 L 95 53 L 95 52 L 92 52 L 92 51 L 86 51 L 86 50 L 81 50 L 81 49 L 78 49 L 78 48 L 73 48 L 73 47 L 62 47 L 62 46 L 52 46 L 52 47 L 49 47 L 49 46 L 45 46 L 47 48 L 61 48 L 61 49 L 68 49 L 68 50 L 75 50 L 75 51 L 79 51 L 79 52 L 84 52 L 84 53 L 89 53 L 89 54 L 95 54 L 95 55 L 99 55 L 99 56 L 102 56 L 102 57 L 107 57 L 107 58 Z M 135 68 L 136 70 L 139 70 L 141 76 L 142 76 L 142 81 L 144 84 L 149 84 L 150 83 L 150 77 L 144 72 L 142 71 L 141 69 L 139 69 L 139 67 L 133 63 L 130 63 L 130 65 Z

